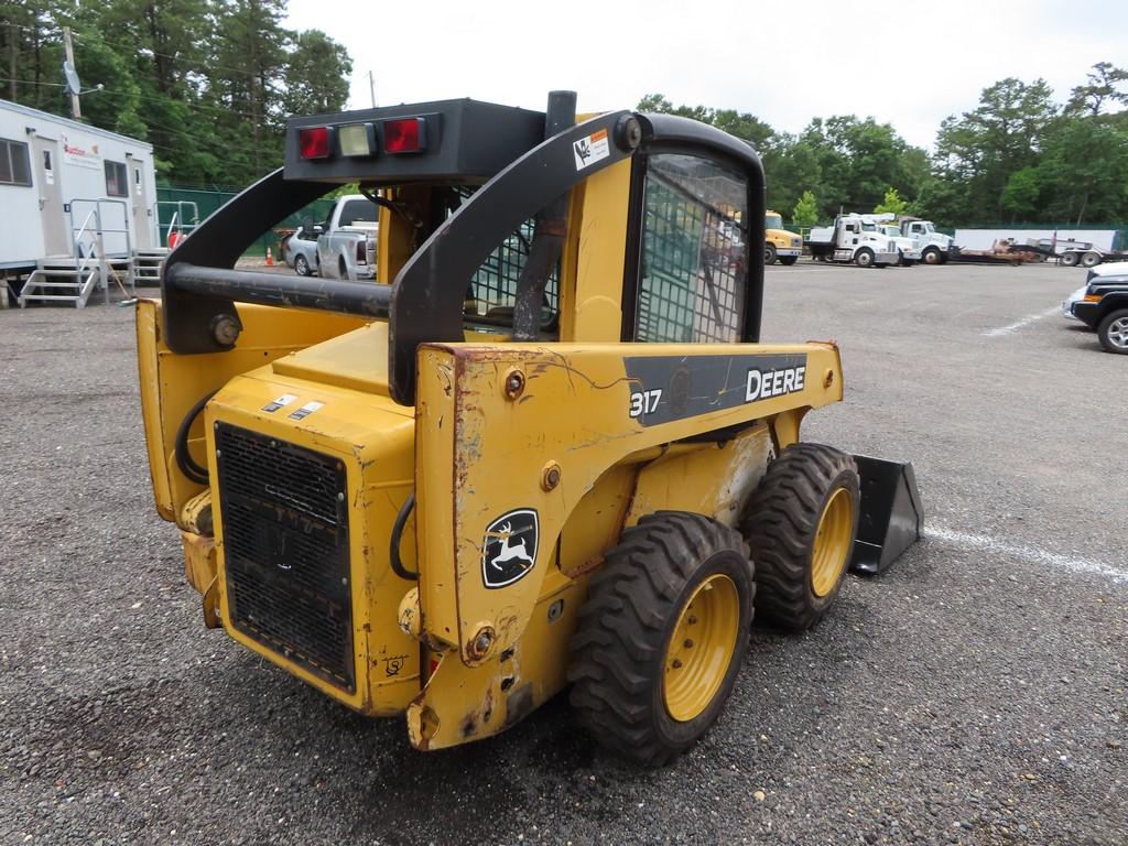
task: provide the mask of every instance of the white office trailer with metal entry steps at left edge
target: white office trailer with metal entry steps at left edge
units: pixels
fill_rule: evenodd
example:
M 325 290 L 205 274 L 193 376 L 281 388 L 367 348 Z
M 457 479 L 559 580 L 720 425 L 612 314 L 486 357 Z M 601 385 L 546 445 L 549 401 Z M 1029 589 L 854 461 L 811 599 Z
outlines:
M 132 289 L 164 252 L 151 144 L 0 99 L 0 280 L 21 306 Z

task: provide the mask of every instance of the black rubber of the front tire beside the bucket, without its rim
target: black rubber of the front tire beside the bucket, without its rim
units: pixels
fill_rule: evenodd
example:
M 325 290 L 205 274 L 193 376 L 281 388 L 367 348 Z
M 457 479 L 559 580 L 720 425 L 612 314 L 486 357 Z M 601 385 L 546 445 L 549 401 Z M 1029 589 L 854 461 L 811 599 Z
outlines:
M 811 552 L 819 520 L 838 487 L 846 487 L 854 500 L 852 541 L 841 576 L 819 597 L 811 584 Z M 822 618 L 849 569 L 860 501 L 857 465 L 840 450 L 794 443 L 772 462 L 741 520 L 756 563 L 756 613 L 761 622 L 802 632 Z

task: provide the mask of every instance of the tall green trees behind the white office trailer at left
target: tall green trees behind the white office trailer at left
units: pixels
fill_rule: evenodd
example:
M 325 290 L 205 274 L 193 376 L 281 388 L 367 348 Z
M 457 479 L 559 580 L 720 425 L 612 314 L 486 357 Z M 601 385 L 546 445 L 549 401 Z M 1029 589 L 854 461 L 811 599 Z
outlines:
M 73 34 L 82 118 L 149 141 L 161 182 L 239 187 L 282 161 L 289 115 L 337 112 L 352 60 L 287 0 L 0 0 L 0 96 L 70 114 Z

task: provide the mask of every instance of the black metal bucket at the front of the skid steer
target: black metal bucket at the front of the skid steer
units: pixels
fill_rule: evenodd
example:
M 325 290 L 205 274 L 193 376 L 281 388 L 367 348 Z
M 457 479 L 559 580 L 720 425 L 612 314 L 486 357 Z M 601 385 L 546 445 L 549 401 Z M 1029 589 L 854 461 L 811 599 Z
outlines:
M 862 482 L 862 513 L 851 569 L 873 575 L 920 539 L 924 509 L 913 465 L 854 456 Z

